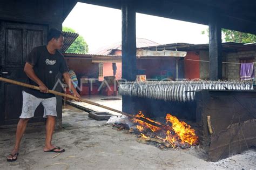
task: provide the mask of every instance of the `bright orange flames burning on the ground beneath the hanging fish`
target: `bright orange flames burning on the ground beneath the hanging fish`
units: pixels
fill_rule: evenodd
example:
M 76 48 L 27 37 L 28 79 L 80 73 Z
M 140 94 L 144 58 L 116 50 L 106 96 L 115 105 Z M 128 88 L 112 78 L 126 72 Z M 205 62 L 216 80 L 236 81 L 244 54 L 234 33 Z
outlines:
M 156 121 L 146 118 L 142 112 L 139 112 L 135 116 L 149 120 L 157 125 L 161 125 Z M 179 121 L 178 118 L 171 114 L 167 114 L 165 119 L 166 126 L 164 128 L 151 125 L 138 119 L 133 119 L 132 121 L 136 124 L 136 130 L 140 132 L 140 136 L 142 138 L 160 139 L 163 142 L 170 144 L 173 148 L 184 148 L 198 144 L 198 137 L 190 125 L 187 125 L 184 121 Z

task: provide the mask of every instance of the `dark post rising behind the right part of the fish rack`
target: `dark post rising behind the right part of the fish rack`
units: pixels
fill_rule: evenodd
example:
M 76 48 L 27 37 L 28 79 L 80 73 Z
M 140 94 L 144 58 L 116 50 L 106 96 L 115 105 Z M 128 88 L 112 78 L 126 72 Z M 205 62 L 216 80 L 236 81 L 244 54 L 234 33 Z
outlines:
M 221 28 L 217 17 L 209 21 L 210 79 L 222 79 Z

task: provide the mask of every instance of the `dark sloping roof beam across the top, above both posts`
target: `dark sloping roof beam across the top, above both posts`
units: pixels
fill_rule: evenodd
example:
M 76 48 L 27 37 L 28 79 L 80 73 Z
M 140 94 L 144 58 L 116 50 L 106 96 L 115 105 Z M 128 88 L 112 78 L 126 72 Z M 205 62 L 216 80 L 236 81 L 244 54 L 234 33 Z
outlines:
M 80 0 L 79 2 L 121 9 L 125 1 Z M 219 15 L 218 20 L 221 28 L 256 35 L 256 1 L 140 0 L 134 2 L 134 8 L 139 13 L 204 25 L 208 25 L 211 12 L 214 12 Z

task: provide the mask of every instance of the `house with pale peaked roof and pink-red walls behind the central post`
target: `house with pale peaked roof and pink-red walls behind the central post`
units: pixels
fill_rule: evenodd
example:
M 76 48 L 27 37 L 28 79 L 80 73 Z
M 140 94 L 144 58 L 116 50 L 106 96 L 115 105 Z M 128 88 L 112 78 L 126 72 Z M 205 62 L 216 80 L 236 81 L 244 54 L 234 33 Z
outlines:
M 186 53 L 174 51 L 159 52 L 147 50 L 158 43 L 144 38 L 137 38 L 137 74 L 145 74 L 147 79 L 184 78 L 183 58 Z M 141 50 L 144 48 L 144 50 Z M 122 44 L 115 43 L 102 47 L 93 54 L 64 53 L 69 68 L 80 78 L 93 78 L 103 81 L 104 77 L 113 76 L 112 63 L 116 63 L 116 79 L 122 79 Z

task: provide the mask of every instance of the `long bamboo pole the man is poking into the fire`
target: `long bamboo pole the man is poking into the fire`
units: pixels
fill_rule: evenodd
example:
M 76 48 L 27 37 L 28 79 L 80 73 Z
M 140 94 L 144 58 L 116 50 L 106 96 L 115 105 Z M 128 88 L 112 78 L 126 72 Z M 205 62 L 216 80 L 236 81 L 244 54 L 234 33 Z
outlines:
M 23 87 L 28 87 L 28 88 L 30 88 L 30 89 L 40 90 L 38 86 L 34 86 L 34 85 L 22 83 L 22 82 L 19 82 L 19 81 L 15 81 L 15 80 L 3 78 L 3 77 L 0 77 L 0 81 L 4 81 L 4 82 L 6 82 L 6 83 L 11 83 L 11 84 L 15 84 L 15 85 L 23 86 Z M 72 95 L 70 95 L 70 94 L 64 94 L 64 93 L 60 93 L 60 92 L 57 92 L 57 91 L 54 91 L 54 90 L 49 90 L 49 93 L 52 93 L 52 94 L 55 94 L 55 95 L 58 95 L 58 96 L 62 96 L 62 97 L 67 97 L 67 98 L 74 99 L 74 100 L 79 100 L 79 98 L 74 97 L 74 96 L 72 96 Z M 83 101 L 84 103 L 91 104 L 91 105 L 95 105 L 95 106 L 98 106 L 98 107 L 106 108 L 107 110 L 110 110 L 110 111 L 113 111 L 113 112 L 117 112 L 117 113 L 120 113 L 120 114 L 124 114 L 124 115 L 126 115 L 127 117 L 130 117 L 130 118 L 142 120 L 142 121 L 144 121 L 144 122 L 146 122 L 146 123 L 148 123 L 148 124 L 151 124 L 151 125 L 153 125 L 153 126 L 157 126 L 157 127 L 161 127 L 161 128 L 164 128 L 164 127 L 166 126 L 166 125 L 161 124 L 161 123 L 157 123 L 157 124 L 156 124 L 156 123 L 154 123 L 154 122 L 152 122 L 152 121 L 149 121 L 149 120 L 147 120 L 147 119 L 144 119 L 144 118 L 135 117 L 134 115 L 131 115 L 131 114 L 129 114 L 129 113 L 125 113 L 125 112 L 116 110 L 116 109 L 111 108 L 111 107 L 107 107 L 107 106 L 104 106 L 104 105 L 100 105 L 100 104 L 98 104 L 98 103 L 95 103 L 95 102 L 92 102 L 92 101 L 89 101 L 89 100 L 81 99 L 80 101 Z

